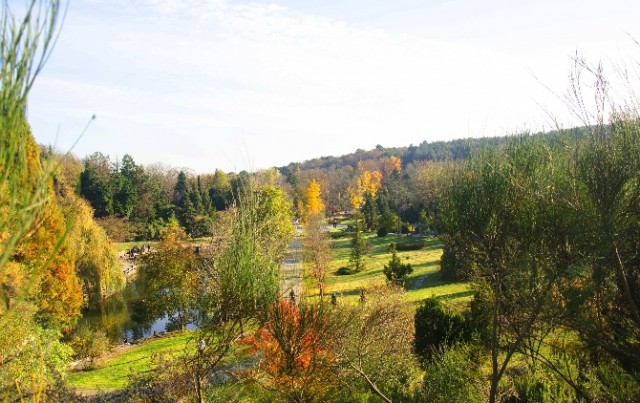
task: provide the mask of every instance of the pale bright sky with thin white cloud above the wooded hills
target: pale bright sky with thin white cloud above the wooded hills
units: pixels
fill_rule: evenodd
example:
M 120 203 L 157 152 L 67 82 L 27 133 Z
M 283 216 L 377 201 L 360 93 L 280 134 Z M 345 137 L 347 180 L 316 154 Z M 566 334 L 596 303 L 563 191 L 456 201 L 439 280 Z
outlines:
M 628 0 L 70 0 L 28 119 L 64 152 L 95 115 L 78 157 L 198 173 L 535 132 L 577 124 L 572 57 L 638 55 L 639 20 Z

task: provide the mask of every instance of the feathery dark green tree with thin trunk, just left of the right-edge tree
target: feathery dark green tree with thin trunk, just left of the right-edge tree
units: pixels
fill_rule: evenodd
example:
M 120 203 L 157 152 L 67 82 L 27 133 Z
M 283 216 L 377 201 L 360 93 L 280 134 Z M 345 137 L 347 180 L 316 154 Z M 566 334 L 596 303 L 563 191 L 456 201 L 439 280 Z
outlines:
M 473 159 L 442 199 L 450 245 L 491 290 L 491 402 L 513 354 L 552 312 L 554 285 L 570 276 L 578 226 L 554 202 L 567 183 L 555 155 L 541 142 L 516 138 L 505 154 Z

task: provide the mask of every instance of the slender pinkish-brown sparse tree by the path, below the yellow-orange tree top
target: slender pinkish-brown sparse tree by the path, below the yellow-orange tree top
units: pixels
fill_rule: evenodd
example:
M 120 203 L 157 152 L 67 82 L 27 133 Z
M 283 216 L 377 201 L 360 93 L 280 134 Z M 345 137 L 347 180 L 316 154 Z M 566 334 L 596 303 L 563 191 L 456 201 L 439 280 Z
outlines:
M 331 240 L 323 228 L 324 219 L 319 214 L 311 215 L 304 227 L 304 251 L 311 263 L 310 275 L 318 283 L 318 291 L 323 295 L 324 278 L 331 261 Z

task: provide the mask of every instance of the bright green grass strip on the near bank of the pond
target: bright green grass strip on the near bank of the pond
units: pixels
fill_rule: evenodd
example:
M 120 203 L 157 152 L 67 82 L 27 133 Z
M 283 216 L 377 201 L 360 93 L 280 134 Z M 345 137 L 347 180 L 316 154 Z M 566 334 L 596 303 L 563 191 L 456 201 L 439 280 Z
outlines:
M 95 369 L 71 371 L 67 384 L 77 390 L 116 390 L 127 386 L 129 374 L 151 369 L 154 353 L 179 354 L 191 340 L 191 332 L 170 334 L 140 345 L 119 348 L 101 359 Z

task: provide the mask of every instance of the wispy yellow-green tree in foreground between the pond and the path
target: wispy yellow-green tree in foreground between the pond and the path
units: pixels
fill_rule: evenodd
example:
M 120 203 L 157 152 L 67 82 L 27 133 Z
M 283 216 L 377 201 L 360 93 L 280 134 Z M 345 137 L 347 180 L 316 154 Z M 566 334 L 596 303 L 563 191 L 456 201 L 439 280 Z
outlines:
M 238 183 L 233 208 L 219 213 L 215 241 L 196 259 L 196 340 L 205 346 L 183 358 L 196 385 L 233 351 L 252 319 L 265 320 L 278 300 L 280 264 L 294 234 L 291 204 L 280 189 Z M 195 349 L 194 349 L 195 350 Z

